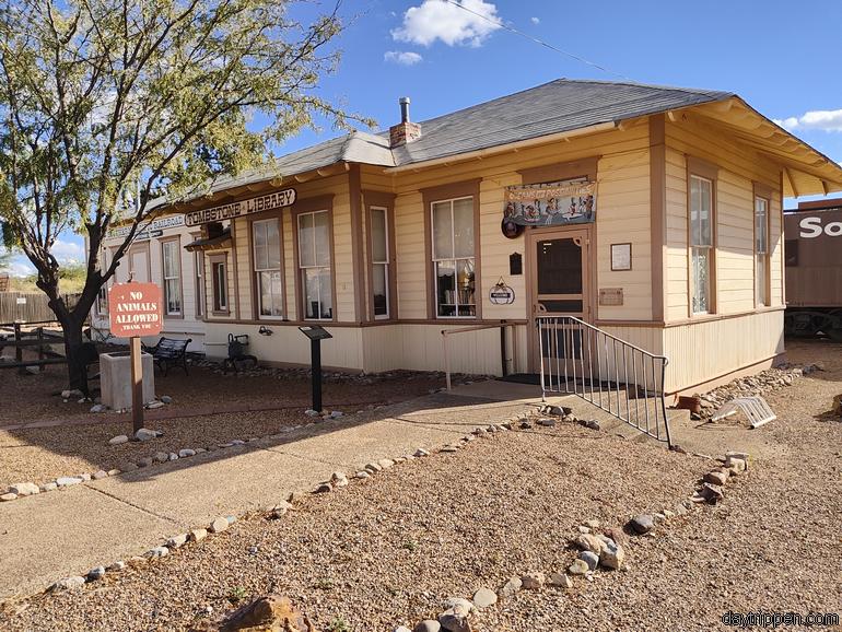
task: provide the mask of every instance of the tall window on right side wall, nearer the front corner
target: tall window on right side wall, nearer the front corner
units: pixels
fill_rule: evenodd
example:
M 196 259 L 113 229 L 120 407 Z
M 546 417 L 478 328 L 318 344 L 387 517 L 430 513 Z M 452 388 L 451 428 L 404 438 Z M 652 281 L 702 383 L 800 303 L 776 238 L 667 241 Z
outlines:
M 690 290 L 693 314 L 712 311 L 713 182 L 690 176 Z

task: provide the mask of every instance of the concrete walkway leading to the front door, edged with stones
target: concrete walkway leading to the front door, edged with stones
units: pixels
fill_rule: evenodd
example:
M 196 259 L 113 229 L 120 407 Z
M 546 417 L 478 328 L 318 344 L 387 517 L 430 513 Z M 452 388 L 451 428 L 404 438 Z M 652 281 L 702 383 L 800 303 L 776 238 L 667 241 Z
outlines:
M 220 515 L 270 507 L 337 470 L 451 443 L 539 401 L 535 387 L 481 384 L 0 504 L 0 598 L 142 554 Z M 521 389 L 521 390 L 518 390 Z M 500 401 L 505 399 L 505 401 Z M 495 401 L 496 400 L 496 401 Z M 185 446 L 188 447 L 188 446 Z

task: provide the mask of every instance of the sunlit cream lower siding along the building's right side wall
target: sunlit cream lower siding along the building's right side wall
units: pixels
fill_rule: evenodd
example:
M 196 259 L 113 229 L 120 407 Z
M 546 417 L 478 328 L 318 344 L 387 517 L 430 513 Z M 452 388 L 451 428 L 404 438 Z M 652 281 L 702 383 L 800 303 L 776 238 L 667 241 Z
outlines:
M 783 312 L 759 312 L 664 329 L 667 390 L 691 389 L 783 353 Z

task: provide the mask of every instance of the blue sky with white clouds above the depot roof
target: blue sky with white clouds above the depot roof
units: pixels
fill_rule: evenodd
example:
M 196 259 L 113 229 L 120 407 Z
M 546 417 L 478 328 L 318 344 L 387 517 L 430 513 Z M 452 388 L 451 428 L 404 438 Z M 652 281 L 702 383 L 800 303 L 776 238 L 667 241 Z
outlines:
M 346 0 L 342 61 L 319 94 L 387 128 L 404 95 L 413 120 L 423 120 L 561 77 L 709 87 L 736 92 L 842 162 L 842 2 L 454 1 L 475 13 L 445 0 Z M 329 126 L 305 131 L 282 153 L 336 134 Z M 58 249 L 61 258 L 83 256 L 78 236 Z M 23 270 L 20 258 L 15 268 Z

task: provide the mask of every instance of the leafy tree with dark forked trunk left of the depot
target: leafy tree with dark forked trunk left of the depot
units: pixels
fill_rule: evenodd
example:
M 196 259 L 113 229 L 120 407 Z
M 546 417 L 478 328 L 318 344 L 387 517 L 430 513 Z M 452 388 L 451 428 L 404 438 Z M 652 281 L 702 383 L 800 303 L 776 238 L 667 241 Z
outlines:
M 339 5 L 303 24 L 292 4 L 0 0 L 0 219 L 61 324 L 71 386 L 85 316 L 162 196 L 196 196 L 270 161 L 267 148 L 316 117 L 363 120 L 315 94 L 339 60 Z M 269 122 L 254 129 L 254 117 Z M 103 269 L 118 221 L 130 230 Z M 72 307 L 51 254 L 67 230 L 87 237 Z

